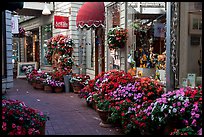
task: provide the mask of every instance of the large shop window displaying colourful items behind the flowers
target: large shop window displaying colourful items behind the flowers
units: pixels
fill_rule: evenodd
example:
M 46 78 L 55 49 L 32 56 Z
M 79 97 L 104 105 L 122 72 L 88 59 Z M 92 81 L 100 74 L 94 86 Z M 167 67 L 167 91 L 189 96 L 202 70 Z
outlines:
M 152 69 L 165 71 L 166 14 L 141 13 L 138 2 L 127 5 L 128 55 L 133 55 L 134 66 L 149 72 Z M 143 76 L 156 76 L 156 73 L 143 73 Z

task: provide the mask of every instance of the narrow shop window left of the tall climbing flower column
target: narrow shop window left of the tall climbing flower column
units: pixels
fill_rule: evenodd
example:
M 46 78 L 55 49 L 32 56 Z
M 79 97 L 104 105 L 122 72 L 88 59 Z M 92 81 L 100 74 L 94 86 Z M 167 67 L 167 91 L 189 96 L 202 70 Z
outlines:
M 47 52 L 47 40 L 52 37 L 52 24 L 47 24 L 41 27 L 41 61 L 42 66 L 49 66 L 45 53 Z

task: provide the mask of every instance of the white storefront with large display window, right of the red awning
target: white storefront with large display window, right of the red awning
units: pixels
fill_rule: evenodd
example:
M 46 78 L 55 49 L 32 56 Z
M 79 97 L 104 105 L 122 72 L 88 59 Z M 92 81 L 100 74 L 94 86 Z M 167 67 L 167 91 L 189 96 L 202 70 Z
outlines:
M 151 76 L 167 89 L 201 83 L 202 5 L 193 5 L 197 8 L 188 2 L 106 2 L 106 36 L 116 26 L 128 32 L 124 48 L 110 49 L 106 38 L 106 70 L 134 67 L 134 75 Z

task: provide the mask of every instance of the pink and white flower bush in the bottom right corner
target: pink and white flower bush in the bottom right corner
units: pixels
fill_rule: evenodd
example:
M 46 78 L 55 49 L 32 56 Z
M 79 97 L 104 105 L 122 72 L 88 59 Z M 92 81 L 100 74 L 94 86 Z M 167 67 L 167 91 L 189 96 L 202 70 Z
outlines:
M 196 132 L 202 127 L 202 88 L 180 88 L 164 93 L 150 106 L 150 117 L 157 128 L 164 128 L 165 134 L 174 128 L 190 126 Z

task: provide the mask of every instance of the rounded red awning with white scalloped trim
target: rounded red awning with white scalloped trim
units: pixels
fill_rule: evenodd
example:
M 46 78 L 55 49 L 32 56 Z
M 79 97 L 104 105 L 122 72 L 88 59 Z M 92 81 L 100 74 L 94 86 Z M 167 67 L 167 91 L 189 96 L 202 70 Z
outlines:
M 85 2 L 78 11 L 76 18 L 77 27 L 104 26 L 104 2 Z

